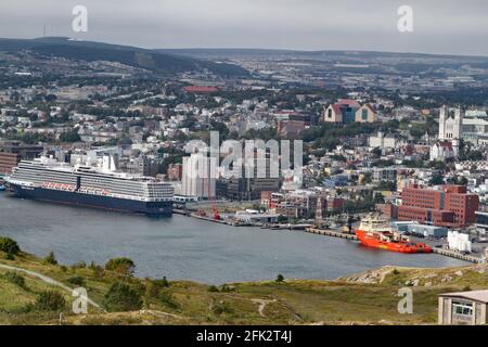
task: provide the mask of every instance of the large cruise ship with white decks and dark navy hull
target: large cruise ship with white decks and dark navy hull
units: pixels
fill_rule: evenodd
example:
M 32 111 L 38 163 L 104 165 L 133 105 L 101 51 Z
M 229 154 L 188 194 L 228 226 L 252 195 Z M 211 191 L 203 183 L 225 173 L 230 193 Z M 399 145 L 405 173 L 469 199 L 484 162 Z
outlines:
M 172 214 L 174 189 L 151 177 L 41 157 L 22 160 L 5 178 L 17 197 L 152 216 Z

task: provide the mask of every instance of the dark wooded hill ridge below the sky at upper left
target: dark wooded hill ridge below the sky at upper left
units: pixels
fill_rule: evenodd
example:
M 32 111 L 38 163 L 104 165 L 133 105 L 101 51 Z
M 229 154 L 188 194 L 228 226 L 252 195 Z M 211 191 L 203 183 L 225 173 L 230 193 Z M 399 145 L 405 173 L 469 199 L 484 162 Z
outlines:
M 247 76 L 248 73 L 232 64 L 218 64 L 209 61 L 185 57 L 155 50 L 129 46 L 110 44 L 92 41 L 70 40 L 62 37 L 38 39 L 0 39 L 0 51 L 18 52 L 28 50 L 46 56 L 60 56 L 72 60 L 113 61 L 142 67 L 162 74 L 197 72 L 208 69 L 221 76 Z

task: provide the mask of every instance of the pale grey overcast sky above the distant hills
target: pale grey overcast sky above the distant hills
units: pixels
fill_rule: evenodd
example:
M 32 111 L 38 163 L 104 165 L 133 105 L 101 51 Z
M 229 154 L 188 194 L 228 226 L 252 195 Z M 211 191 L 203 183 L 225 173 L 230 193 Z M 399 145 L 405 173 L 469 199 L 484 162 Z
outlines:
M 88 33 L 72 10 L 88 9 Z M 413 33 L 397 29 L 413 9 Z M 487 0 L 1 0 L 0 37 L 145 48 L 375 50 L 488 55 Z

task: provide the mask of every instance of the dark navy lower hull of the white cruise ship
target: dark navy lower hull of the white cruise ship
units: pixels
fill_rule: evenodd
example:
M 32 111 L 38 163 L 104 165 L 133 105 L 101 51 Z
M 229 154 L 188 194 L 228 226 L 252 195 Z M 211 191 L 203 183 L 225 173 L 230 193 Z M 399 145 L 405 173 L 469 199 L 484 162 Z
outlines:
M 171 216 L 172 214 L 171 202 L 140 202 L 112 196 L 84 194 L 79 192 L 24 187 L 12 183 L 9 184 L 9 191 L 16 197 L 56 204 L 84 206 L 121 213 L 144 214 L 149 216 Z

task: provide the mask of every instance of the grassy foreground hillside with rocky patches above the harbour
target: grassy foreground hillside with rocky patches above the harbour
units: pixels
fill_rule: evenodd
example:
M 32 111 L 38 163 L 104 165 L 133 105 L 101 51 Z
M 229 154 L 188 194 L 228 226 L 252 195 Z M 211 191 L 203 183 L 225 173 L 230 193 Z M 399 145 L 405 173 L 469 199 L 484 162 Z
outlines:
M 439 293 L 486 288 L 488 284 L 486 266 L 388 267 L 336 281 L 264 281 L 215 287 L 136 279 L 94 265 L 48 265 L 24 253 L 14 258 L 8 260 L 0 252 L 0 324 L 59 324 L 60 311 L 63 324 L 436 324 Z M 103 308 L 90 306 L 88 314 L 74 314 L 68 291 L 2 265 L 36 271 L 69 288 L 81 281 L 89 298 Z M 13 272 L 24 278 L 23 285 L 12 280 Z M 141 305 L 121 310 L 107 307 L 106 294 L 114 283 L 131 287 Z M 414 293 L 414 313 L 399 314 L 397 293 L 407 285 Z M 47 291 L 64 296 L 62 309 L 38 307 Z

